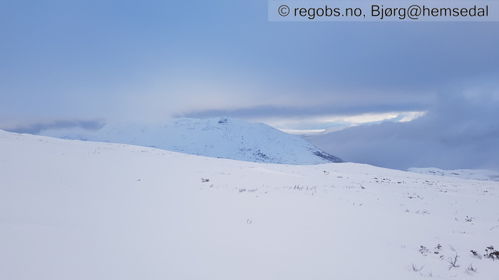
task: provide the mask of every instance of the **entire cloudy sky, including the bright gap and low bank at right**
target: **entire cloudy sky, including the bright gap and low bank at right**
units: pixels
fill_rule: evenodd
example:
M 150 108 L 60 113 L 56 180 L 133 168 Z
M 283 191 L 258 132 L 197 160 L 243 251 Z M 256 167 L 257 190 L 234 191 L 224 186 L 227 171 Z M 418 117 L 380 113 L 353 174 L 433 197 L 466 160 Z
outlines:
M 225 115 L 348 127 L 320 141 L 346 161 L 418 163 L 411 149 L 408 163 L 371 159 L 404 149 L 401 137 L 441 149 L 423 161 L 433 167 L 499 168 L 498 31 L 499 22 L 272 22 L 261 0 L 0 0 L 0 129 Z M 475 164 L 453 164 L 455 142 Z

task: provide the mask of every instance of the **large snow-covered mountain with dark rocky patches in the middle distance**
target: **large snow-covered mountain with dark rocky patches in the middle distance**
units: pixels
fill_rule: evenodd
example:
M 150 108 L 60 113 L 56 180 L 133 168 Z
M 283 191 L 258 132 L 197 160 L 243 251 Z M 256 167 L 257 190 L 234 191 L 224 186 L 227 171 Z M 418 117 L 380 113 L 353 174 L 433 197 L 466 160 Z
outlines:
M 312 144 L 267 124 L 240 119 L 171 119 L 163 125 L 108 124 L 94 133 L 45 131 L 43 135 L 150 146 L 185 154 L 285 164 L 341 162 Z

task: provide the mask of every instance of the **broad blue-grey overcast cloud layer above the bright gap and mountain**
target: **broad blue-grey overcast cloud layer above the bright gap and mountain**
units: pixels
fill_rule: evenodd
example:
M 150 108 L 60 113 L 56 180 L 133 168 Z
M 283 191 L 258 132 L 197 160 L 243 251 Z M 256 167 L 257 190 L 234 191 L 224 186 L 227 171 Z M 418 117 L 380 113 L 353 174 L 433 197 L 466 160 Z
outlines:
M 495 23 L 295 24 L 267 21 L 262 1 L 94 2 L 5 7 L 2 121 L 424 111 L 439 85 L 499 63 Z

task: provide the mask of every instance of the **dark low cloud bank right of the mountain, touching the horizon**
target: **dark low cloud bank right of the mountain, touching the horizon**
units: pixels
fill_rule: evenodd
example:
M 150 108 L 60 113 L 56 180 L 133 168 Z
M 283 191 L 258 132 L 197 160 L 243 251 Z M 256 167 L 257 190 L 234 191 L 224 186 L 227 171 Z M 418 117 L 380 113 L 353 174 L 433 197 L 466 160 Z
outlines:
M 411 122 L 356 126 L 307 140 L 345 161 L 410 167 L 499 169 L 499 98 L 490 87 L 443 92 Z

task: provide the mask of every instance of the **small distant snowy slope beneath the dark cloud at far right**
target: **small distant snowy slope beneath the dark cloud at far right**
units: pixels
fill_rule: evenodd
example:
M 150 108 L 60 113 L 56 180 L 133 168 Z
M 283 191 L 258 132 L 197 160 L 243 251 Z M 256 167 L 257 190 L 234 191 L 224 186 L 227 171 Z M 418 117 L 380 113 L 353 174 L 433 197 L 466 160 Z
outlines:
M 456 169 L 456 170 L 443 170 L 439 168 L 408 168 L 409 172 L 416 172 L 421 174 L 430 174 L 435 176 L 448 176 L 457 177 L 463 179 L 474 179 L 474 180 L 490 180 L 499 181 L 499 172 L 490 170 L 475 170 L 475 169 Z

